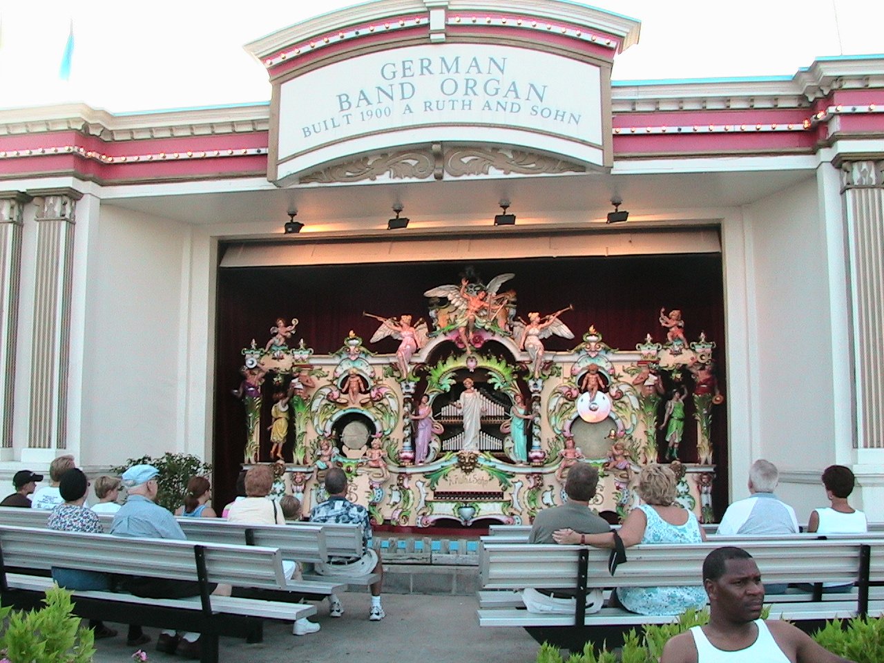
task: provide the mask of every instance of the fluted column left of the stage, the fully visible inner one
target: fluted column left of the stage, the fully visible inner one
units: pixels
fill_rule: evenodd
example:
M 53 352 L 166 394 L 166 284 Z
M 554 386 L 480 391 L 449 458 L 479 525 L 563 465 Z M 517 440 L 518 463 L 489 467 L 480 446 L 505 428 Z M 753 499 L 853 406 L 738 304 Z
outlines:
M 74 208 L 82 194 L 72 189 L 31 193 L 38 198 L 38 210 L 27 444 L 32 449 L 65 449 Z

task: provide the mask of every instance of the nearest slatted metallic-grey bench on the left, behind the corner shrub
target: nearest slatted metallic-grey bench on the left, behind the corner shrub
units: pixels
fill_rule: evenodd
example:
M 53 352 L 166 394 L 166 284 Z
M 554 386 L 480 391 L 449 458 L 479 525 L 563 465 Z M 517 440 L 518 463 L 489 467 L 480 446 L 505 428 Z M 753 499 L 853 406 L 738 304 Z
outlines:
M 39 605 L 52 581 L 7 574 L 7 567 L 51 567 L 194 581 L 194 598 L 139 598 L 112 591 L 73 591 L 74 612 L 88 619 L 124 621 L 202 634 L 203 663 L 217 663 L 218 636 L 260 630 L 264 619 L 295 621 L 315 606 L 210 595 L 210 583 L 293 591 L 278 548 L 206 542 L 114 537 L 0 525 L 0 592 L 3 604 Z

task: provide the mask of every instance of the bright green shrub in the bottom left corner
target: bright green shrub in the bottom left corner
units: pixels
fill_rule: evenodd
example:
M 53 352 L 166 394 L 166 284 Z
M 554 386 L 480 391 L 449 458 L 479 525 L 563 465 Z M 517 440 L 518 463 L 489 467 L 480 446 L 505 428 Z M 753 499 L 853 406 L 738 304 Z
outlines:
M 0 651 L 10 663 L 89 663 L 95 655 L 92 629 L 80 626 L 72 614 L 71 592 L 46 591 L 45 607 L 11 612 L 0 608 Z

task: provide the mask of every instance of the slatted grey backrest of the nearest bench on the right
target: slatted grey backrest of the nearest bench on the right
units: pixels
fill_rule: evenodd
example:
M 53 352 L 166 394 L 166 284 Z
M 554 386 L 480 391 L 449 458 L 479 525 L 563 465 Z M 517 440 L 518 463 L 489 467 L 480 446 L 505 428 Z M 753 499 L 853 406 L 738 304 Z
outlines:
M 544 587 L 573 589 L 578 575 L 580 546 L 555 544 L 497 544 L 484 539 L 479 571 L 485 589 Z M 766 582 L 856 582 L 860 541 L 743 541 Z M 587 586 L 698 585 L 705 556 L 719 544 L 636 545 L 627 550 L 628 562 L 613 577 L 607 570 L 610 551 L 587 550 Z

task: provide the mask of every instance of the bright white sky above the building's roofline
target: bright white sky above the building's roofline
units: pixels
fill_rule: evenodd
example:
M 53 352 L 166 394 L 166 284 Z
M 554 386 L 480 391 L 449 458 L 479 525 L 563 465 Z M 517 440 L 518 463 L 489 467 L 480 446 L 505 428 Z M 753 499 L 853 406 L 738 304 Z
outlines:
M 0 108 L 85 102 L 112 112 L 266 102 L 243 46 L 347 0 L 0 0 Z M 884 2 L 598 0 L 642 22 L 613 80 L 792 76 L 814 58 L 884 53 Z M 59 78 L 71 21 L 70 80 Z

